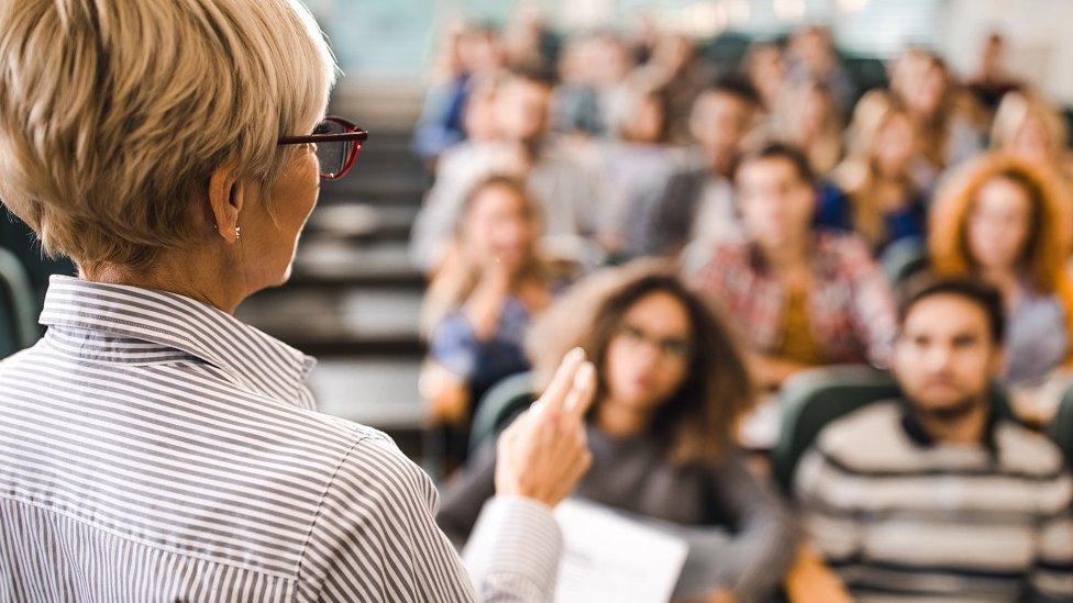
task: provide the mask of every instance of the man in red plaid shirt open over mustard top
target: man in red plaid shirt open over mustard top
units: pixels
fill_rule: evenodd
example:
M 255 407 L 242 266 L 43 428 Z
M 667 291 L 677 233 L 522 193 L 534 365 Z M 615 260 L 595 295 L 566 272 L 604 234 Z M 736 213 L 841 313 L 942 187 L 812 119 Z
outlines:
M 817 365 L 882 364 L 894 338 L 891 289 L 859 238 L 812 230 L 805 156 L 767 145 L 741 159 L 735 180 L 744 234 L 694 246 L 686 272 L 734 317 L 760 383 L 777 388 Z

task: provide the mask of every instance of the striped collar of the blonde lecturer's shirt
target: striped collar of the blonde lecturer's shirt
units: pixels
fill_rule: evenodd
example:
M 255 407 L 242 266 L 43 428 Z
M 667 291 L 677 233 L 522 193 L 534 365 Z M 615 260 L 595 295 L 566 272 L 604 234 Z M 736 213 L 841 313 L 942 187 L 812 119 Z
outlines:
M 41 324 L 189 354 L 236 384 L 292 402 L 316 360 L 190 298 L 65 276 L 49 279 Z

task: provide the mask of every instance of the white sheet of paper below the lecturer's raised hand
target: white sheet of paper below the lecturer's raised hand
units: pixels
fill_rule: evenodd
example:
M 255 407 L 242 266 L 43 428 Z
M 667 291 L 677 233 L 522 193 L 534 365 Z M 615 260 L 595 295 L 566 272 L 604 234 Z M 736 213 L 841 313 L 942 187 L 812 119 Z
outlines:
M 688 546 L 594 503 L 555 509 L 563 531 L 556 603 L 663 603 L 671 599 Z

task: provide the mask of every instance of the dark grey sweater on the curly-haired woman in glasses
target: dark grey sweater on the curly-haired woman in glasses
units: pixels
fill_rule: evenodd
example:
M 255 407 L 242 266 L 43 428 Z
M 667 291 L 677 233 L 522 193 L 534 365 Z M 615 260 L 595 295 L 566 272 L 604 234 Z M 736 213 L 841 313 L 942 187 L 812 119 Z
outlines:
M 617 439 L 588 428 L 593 467 L 575 496 L 654 524 L 689 545 L 676 596 L 730 589 L 740 601 L 770 594 L 792 562 L 797 529 L 785 505 L 741 460 L 677 467 L 651 435 Z M 447 485 L 436 518 L 461 545 L 495 494 L 495 443 Z

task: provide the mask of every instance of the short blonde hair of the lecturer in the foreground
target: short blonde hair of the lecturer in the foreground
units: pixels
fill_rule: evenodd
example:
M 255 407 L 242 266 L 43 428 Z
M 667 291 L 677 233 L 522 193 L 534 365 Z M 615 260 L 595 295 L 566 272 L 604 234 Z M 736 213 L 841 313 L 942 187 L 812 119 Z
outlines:
M 335 62 L 298 0 L 0 3 L 0 200 L 48 254 L 146 268 L 209 177 L 270 186 Z

